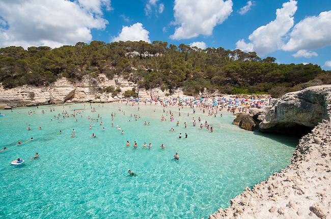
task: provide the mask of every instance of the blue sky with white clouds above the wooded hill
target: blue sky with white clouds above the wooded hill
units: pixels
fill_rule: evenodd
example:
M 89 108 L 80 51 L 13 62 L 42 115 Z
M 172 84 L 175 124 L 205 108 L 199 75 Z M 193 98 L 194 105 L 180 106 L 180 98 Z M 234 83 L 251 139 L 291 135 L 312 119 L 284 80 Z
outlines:
M 0 0 L 0 47 L 92 40 L 255 51 L 331 69 L 331 0 Z

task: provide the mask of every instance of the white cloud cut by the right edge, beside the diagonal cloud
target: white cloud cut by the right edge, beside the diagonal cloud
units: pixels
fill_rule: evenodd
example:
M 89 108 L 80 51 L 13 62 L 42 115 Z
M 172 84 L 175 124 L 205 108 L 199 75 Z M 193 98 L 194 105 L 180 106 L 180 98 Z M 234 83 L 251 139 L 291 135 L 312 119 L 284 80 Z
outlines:
M 331 45 L 331 11 L 301 20 L 294 26 L 290 36 L 289 42 L 282 47 L 286 51 L 318 49 Z

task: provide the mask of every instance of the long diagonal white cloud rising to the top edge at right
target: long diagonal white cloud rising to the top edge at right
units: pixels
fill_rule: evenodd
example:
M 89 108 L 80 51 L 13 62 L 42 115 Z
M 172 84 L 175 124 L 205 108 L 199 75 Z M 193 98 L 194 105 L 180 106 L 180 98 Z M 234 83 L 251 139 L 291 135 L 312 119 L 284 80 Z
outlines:
M 283 37 L 294 24 L 293 15 L 297 10 L 296 3 L 293 0 L 284 3 L 281 9 L 277 9 L 275 20 L 254 30 L 249 36 L 250 43 L 239 40 L 238 49 L 252 48 L 253 44 L 253 50 L 262 56 L 280 49 L 284 45 Z

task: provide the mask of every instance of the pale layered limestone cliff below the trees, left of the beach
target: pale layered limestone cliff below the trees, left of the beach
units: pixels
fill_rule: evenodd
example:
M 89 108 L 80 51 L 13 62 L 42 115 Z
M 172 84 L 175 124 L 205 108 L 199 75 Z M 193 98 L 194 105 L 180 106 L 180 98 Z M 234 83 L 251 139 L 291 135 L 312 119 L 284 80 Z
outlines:
M 121 92 L 113 98 L 112 93 L 102 91 L 108 86 L 120 87 Z M 49 86 L 24 85 L 11 89 L 0 86 L 0 108 L 65 102 L 114 102 L 122 98 L 126 90 L 132 90 L 132 88 L 136 89 L 139 98 L 162 98 L 170 95 L 169 90 L 138 89 L 137 84 L 123 77 L 115 76 L 113 79 L 108 79 L 104 74 L 100 74 L 97 78 L 85 76 L 81 81 L 74 82 L 67 78 L 60 78 Z M 181 89 L 175 90 L 172 96 L 185 97 Z

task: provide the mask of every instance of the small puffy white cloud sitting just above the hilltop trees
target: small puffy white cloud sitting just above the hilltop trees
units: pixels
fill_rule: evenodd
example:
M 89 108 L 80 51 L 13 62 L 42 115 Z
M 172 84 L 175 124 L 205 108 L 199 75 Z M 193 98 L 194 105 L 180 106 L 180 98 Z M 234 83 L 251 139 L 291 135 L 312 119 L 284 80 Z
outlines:
M 144 29 L 142 23 L 135 23 L 131 26 L 122 26 L 121 33 L 113 38 L 113 41 L 145 41 L 150 43 L 149 32 Z

